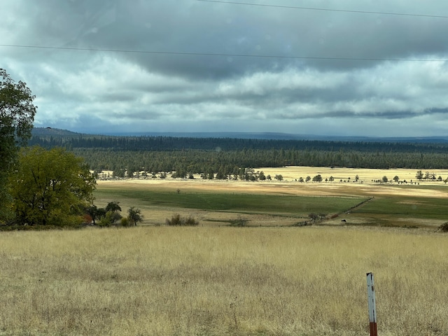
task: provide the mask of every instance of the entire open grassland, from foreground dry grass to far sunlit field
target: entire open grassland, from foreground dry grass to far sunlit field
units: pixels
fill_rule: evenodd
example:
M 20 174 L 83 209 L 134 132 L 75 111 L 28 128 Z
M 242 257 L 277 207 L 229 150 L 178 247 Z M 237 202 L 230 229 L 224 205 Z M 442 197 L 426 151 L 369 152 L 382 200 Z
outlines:
M 298 183 L 329 176 L 292 169 L 263 169 L 282 182 L 99 181 L 97 205 L 139 207 L 144 225 L 1 232 L 0 336 L 367 336 L 367 272 L 379 335 L 448 335 L 448 235 L 434 232 L 447 186 L 372 183 L 381 171 Z M 328 218 L 293 226 L 310 212 Z M 163 225 L 174 213 L 200 226 Z

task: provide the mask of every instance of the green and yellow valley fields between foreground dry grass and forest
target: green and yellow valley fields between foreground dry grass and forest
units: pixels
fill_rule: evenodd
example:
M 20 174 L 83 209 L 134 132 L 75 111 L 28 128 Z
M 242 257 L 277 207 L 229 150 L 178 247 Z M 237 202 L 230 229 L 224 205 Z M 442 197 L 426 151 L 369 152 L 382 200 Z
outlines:
M 285 181 L 209 181 L 202 179 L 129 179 L 99 181 L 97 204 L 119 201 L 139 207 L 144 224 L 160 225 L 174 213 L 191 215 L 201 225 L 228 225 L 243 218 L 248 225 L 284 226 L 325 214 L 321 224 L 381 225 L 437 228 L 448 221 L 448 186 L 440 181 L 416 181 L 413 169 L 346 169 L 325 167 L 263 168 Z M 335 181 L 300 183 L 300 177 L 321 174 Z M 435 171 L 446 179 L 447 171 Z M 357 182 L 355 176 L 359 177 Z M 407 183 L 374 183 L 398 176 Z M 342 182 L 341 182 L 342 180 Z M 411 183 L 412 181 L 412 183 Z M 368 202 L 365 202 L 369 200 Z M 356 207 L 357 204 L 362 204 Z M 355 209 L 352 209 L 355 207 Z M 337 217 L 335 217 L 337 215 Z M 334 218 L 330 218 L 330 217 Z

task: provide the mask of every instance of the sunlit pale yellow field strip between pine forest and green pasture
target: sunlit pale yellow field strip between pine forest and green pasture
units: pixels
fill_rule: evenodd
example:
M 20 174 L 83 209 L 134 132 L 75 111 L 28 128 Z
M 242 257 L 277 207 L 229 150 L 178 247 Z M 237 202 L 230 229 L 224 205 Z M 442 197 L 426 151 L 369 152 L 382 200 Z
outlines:
M 448 184 L 441 181 L 417 181 L 415 169 L 352 169 L 329 167 L 281 167 L 258 168 L 255 172 L 264 172 L 270 175 L 272 181 L 230 181 L 230 180 L 204 180 L 200 176 L 195 179 L 123 179 L 123 180 L 99 180 L 99 186 L 123 188 L 160 188 L 176 190 L 211 190 L 221 192 L 244 193 L 282 193 L 290 195 L 418 195 L 421 197 L 448 197 Z M 434 173 L 442 179 L 448 177 L 448 170 L 436 170 Z M 321 174 L 323 182 L 303 182 L 296 180 L 302 177 L 311 179 Z M 282 175 L 283 181 L 276 181 L 274 176 Z M 332 176 L 335 181 L 325 182 Z M 358 181 L 355 182 L 356 176 Z M 387 176 L 389 183 L 375 182 Z M 406 188 L 384 188 L 385 186 L 398 186 L 393 182 L 393 177 L 398 176 L 400 181 L 407 181 L 400 186 Z M 342 180 L 342 182 L 341 182 Z M 411 183 L 412 181 L 412 183 Z M 446 186 L 447 191 L 426 189 L 425 186 Z M 416 188 L 418 187 L 418 188 Z

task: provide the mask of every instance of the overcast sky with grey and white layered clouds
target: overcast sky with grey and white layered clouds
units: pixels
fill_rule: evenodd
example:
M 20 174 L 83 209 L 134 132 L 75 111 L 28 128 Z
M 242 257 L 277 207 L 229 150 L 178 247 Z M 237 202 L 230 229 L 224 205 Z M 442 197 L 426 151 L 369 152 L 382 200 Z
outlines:
M 448 1 L 242 2 L 1 0 L 0 68 L 36 127 L 447 135 Z

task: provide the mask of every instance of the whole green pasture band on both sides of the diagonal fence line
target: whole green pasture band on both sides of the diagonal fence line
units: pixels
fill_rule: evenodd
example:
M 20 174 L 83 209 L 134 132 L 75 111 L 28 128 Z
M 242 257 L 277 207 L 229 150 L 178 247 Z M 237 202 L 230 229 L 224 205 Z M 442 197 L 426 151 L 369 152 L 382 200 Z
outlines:
M 118 201 L 125 207 L 141 209 L 181 209 L 267 214 L 308 218 L 309 214 L 344 214 L 321 223 L 348 225 L 438 227 L 448 221 L 448 200 L 438 197 L 380 195 L 370 199 L 359 196 L 297 196 L 261 193 L 214 193 L 210 190 L 157 190 L 141 188 L 102 188 L 94 192 L 99 205 Z M 365 202 L 368 201 L 368 202 Z M 349 214 L 345 214 L 349 213 Z

